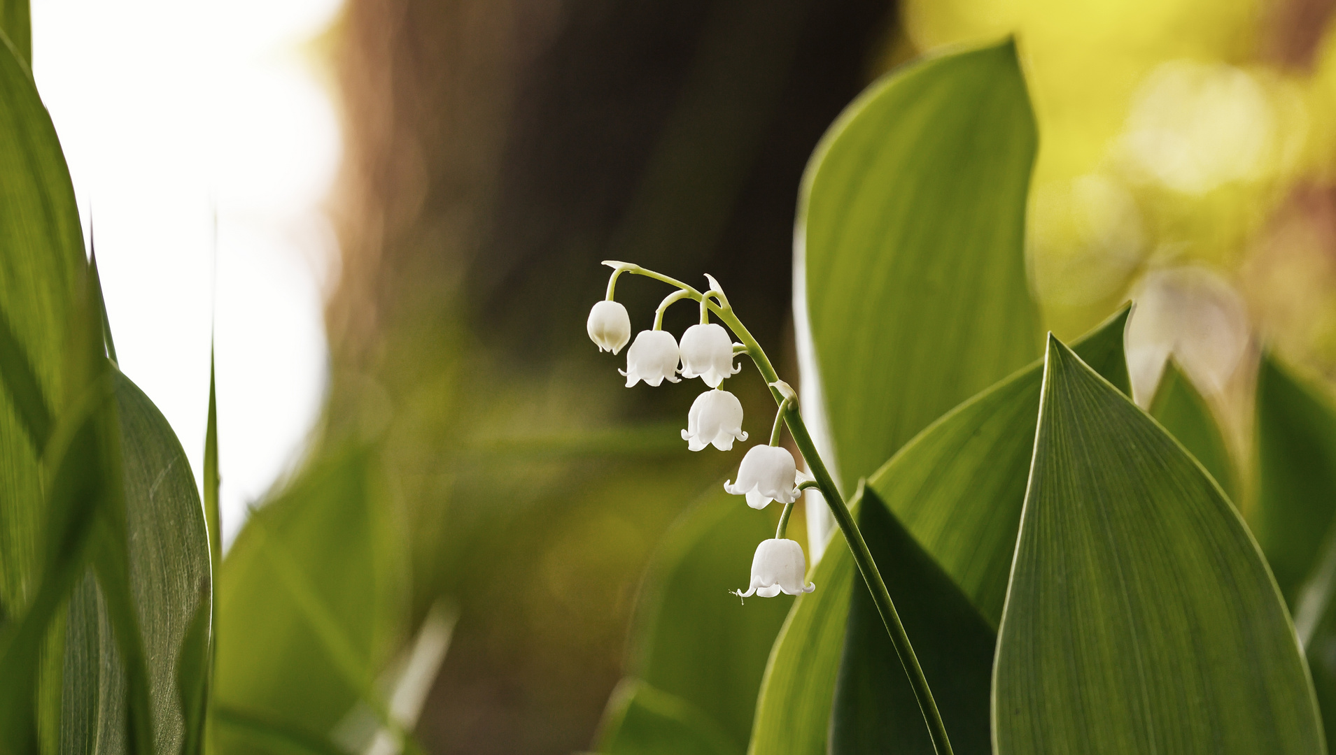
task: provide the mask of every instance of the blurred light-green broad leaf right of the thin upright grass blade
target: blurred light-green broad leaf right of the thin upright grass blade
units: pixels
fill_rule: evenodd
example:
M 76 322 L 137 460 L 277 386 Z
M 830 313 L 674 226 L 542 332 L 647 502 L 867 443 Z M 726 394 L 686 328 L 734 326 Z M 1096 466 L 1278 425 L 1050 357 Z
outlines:
M 374 450 L 334 454 L 253 512 L 223 560 L 214 700 L 327 736 L 401 638 L 405 587 Z M 235 716 L 234 716 L 235 718 Z M 374 734 L 374 731 L 369 732 Z M 236 727 L 223 752 L 253 752 Z

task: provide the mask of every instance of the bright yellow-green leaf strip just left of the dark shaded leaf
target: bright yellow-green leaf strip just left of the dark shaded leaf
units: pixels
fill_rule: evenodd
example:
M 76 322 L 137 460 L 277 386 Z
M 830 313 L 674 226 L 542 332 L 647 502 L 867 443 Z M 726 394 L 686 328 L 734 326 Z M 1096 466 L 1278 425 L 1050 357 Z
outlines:
M 748 755 L 826 755 L 854 580 L 860 580 L 844 538 L 831 539 L 788 612 L 756 700 Z

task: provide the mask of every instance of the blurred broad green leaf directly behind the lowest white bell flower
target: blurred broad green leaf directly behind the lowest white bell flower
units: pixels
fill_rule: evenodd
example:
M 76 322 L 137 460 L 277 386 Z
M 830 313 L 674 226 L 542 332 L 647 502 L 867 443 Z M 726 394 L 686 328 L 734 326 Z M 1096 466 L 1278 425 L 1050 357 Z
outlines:
M 669 695 L 700 711 L 693 718 L 709 720 L 708 728 L 720 732 L 729 752 L 747 747 L 766 659 L 794 599 L 782 595 L 743 604 L 728 591 L 747 586 L 756 546 L 774 536 L 768 516 L 716 486 L 681 515 L 655 554 L 632 634 L 629 675 L 648 683 L 651 696 Z M 624 695 L 609 706 L 629 699 Z M 623 726 L 639 720 L 657 719 L 636 715 Z M 600 748 L 609 752 L 613 740 L 625 750 L 625 742 L 644 739 L 611 723 L 604 736 Z

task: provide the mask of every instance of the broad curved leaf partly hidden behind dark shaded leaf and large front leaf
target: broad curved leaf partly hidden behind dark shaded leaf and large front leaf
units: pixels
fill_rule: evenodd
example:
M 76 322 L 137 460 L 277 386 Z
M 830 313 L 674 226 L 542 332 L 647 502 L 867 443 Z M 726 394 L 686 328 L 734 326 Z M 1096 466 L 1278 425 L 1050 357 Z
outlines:
M 1130 391 L 1122 352 L 1126 321 L 1124 307 L 1077 348 Z M 1006 598 L 1042 369 L 1037 361 L 957 407 L 906 444 L 867 486 L 991 626 Z M 844 539 L 834 538 L 812 575 L 816 592 L 798 599 L 771 652 L 752 752 L 826 752 L 850 586 L 856 579 Z

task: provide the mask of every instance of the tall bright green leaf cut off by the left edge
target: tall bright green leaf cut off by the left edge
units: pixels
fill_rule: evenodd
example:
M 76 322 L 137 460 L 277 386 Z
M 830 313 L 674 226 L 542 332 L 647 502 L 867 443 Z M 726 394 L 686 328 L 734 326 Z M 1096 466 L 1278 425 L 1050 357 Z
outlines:
M 0 13 L 0 24 L 16 24 L 7 31 L 27 36 L 24 24 L 15 21 L 23 16 L 25 23 L 25 1 L 7 0 Z M 7 341 L 0 345 L 23 355 L 52 416 L 68 402 L 67 335 L 84 268 L 81 233 L 51 117 L 27 61 L 0 35 L 0 303 L 8 331 L 0 333 Z M 43 450 L 25 423 L 31 406 L 16 403 L 32 399 L 15 395 L 8 376 L 5 383 L 11 386 L 0 390 L 0 618 L 21 614 L 33 598 L 43 510 L 37 466 Z

